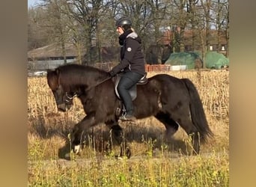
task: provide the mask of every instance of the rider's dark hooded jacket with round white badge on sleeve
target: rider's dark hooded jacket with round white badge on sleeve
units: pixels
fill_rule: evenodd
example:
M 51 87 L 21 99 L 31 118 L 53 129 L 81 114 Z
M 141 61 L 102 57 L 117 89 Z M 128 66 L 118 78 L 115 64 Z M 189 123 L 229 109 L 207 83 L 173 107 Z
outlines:
M 127 37 L 124 38 L 124 46 L 121 47 L 121 62 L 112 68 L 111 74 L 115 75 L 123 70 L 125 72 L 136 72 L 141 75 L 145 73 L 144 56 L 141 52 L 141 39 L 133 31 L 130 31 Z

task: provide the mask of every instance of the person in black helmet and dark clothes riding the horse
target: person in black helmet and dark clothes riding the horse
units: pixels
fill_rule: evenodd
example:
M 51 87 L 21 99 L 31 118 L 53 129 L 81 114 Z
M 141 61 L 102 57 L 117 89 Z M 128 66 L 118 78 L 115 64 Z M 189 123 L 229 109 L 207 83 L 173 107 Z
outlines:
M 145 74 L 144 55 L 141 52 L 141 38 L 132 29 L 132 22 L 127 17 L 122 17 L 116 22 L 121 45 L 121 62 L 112 68 L 110 76 L 124 73 L 118 84 L 118 93 L 121 96 L 126 113 L 121 120 L 135 120 L 132 98 L 129 88 L 132 88 Z

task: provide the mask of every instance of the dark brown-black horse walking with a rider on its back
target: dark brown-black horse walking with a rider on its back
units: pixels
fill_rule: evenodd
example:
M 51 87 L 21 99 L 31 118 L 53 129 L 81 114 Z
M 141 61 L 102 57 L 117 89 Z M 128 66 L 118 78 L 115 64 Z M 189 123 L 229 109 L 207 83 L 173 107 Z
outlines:
M 74 96 L 82 102 L 86 116 L 73 127 L 71 135 L 75 153 L 79 153 L 84 131 L 99 123 L 109 126 L 118 143 L 122 143 L 123 131 L 118 125 L 122 102 L 115 94 L 115 82 L 109 78 L 109 73 L 94 67 L 67 64 L 49 70 L 47 82 L 58 111 L 70 109 Z M 192 135 L 193 153 L 199 153 L 200 144 L 213 135 L 198 91 L 189 79 L 177 79 L 167 74 L 152 76 L 146 84 L 137 85 L 133 104 L 137 119 L 156 117 L 165 125 L 168 136 L 174 135 L 181 126 Z

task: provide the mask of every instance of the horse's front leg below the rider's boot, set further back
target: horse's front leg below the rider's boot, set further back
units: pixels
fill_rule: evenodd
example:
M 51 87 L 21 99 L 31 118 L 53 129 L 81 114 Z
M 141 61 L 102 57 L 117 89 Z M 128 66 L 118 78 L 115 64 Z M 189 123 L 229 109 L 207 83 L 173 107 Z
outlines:
M 107 126 L 110 126 L 110 135 L 109 136 L 110 136 L 111 141 L 114 139 L 118 143 L 118 145 L 120 145 L 120 147 L 121 147 L 120 156 L 127 156 L 128 158 L 130 158 L 131 151 L 127 145 L 127 141 L 124 136 L 124 131 L 121 128 L 121 126 L 119 126 L 118 122 L 115 122 L 112 125 L 107 124 Z M 112 142 L 110 142 L 109 146 L 110 146 L 109 148 L 112 147 Z

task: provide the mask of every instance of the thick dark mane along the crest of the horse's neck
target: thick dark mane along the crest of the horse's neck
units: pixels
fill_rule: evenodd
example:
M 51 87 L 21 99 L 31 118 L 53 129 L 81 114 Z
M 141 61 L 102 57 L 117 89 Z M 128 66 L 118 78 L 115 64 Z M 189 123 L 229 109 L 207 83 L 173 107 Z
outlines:
M 109 77 L 109 73 L 82 64 L 65 64 L 57 68 L 64 85 L 86 85 L 88 80 L 97 82 Z

